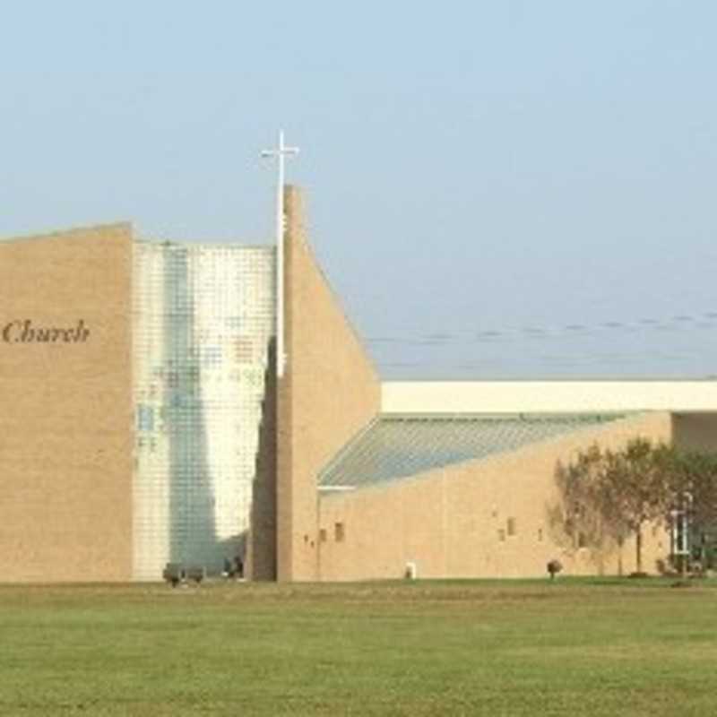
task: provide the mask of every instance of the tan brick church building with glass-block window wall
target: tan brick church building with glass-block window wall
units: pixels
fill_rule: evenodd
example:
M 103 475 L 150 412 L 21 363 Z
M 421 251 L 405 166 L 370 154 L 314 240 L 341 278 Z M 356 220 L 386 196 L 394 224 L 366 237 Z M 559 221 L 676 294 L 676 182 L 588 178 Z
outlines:
M 717 382 L 382 383 L 286 187 L 272 246 L 126 224 L 0 241 L 4 582 L 629 572 L 549 523 L 554 471 L 635 436 L 717 448 Z M 646 531 L 644 565 L 669 553 Z

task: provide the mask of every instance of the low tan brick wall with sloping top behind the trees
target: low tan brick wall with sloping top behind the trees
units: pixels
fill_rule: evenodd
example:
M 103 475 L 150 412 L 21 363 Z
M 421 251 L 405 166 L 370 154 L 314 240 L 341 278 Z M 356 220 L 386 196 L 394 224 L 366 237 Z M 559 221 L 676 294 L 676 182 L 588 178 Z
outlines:
M 604 555 L 568 549 L 548 520 L 555 468 L 598 442 L 617 447 L 634 436 L 669 441 L 668 413 L 620 419 L 526 446 L 511 454 L 466 462 L 384 486 L 320 499 L 322 580 L 398 578 L 409 562 L 419 577 L 518 577 L 545 574 L 557 557 L 567 574 L 617 574 L 635 569 L 634 542 Z M 507 534 L 514 519 L 515 535 Z M 336 525 L 344 531 L 336 540 Z M 499 531 L 504 531 L 503 534 Z M 669 551 L 664 531 L 644 531 L 644 569 Z

